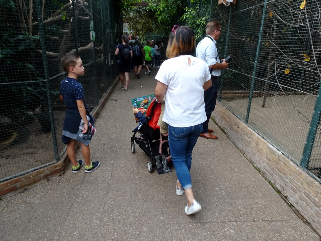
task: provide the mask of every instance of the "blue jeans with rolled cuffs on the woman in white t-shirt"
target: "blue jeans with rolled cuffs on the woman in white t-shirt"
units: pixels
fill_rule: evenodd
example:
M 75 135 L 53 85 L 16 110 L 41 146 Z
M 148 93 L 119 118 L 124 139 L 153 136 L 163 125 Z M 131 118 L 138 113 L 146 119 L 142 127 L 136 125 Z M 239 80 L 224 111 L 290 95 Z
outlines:
M 184 190 L 192 188 L 192 179 L 189 173 L 192 166 L 192 151 L 202 129 L 203 123 L 190 127 L 168 125 L 169 150 L 177 178 Z

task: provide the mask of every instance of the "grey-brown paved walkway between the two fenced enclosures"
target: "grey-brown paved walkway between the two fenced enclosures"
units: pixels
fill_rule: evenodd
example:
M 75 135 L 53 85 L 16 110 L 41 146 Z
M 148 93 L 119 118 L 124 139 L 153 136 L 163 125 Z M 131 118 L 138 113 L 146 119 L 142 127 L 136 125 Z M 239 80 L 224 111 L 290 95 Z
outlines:
M 218 139 L 199 138 L 191 169 L 203 209 L 185 214 L 175 170 L 149 173 L 137 144 L 131 153 L 131 99 L 154 92 L 156 72 L 130 73 L 128 91 L 118 83 L 111 94 L 91 144 L 97 170 L 72 174 L 70 167 L 0 200 L 0 240 L 319 240 L 212 121 Z

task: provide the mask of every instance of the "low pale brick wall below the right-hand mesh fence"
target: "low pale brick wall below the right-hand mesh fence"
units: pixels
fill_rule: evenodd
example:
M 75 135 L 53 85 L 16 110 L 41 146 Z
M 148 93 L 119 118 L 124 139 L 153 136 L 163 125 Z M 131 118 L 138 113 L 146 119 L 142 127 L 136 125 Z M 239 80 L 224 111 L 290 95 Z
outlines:
M 212 118 L 244 156 L 321 235 L 321 183 L 217 103 Z

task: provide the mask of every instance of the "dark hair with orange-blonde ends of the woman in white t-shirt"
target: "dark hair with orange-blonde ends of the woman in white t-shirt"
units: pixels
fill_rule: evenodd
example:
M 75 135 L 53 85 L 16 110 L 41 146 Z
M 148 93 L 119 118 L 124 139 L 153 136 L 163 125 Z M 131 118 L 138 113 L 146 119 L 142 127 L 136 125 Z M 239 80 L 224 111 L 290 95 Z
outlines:
M 175 32 L 175 38 L 170 48 L 166 50 L 167 58 L 174 58 L 180 55 L 193 54 L 195 50 L 195 35 L 188 26 L 181 26 Z

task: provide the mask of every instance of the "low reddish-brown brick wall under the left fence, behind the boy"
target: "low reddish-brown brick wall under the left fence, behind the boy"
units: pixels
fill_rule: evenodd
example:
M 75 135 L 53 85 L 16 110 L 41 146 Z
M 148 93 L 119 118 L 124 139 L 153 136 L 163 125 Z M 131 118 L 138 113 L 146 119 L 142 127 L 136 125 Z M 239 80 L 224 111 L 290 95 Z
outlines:
M 97 118 L 102 108 L 104 107 L 106 101 L 112 90 L 115 88 L 118 79 L 114 84 L 109 88 L 108 92 L 102 98 L 99 106 L 97 106 L 93 111 L 92 115 Z M 80 144 L 77 144 L 75 150 L 77 151 L 80 147 Z M 38 185 L 41 182 L 48 181 L 51 178 L 60 176 L 65 173 L 65 169 L 70 164 L 70 160 L 65 153 L 59 160 L 59 162 L 43 167 L 39 170 L 30 172 L 28 174 L 21 175 L 19 177 L 12 178 L 8 181 L 0 183 L 0 199 L 4 199 L 7 196 L 23 192 L 35 185 Z

